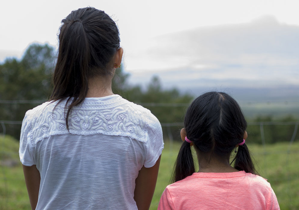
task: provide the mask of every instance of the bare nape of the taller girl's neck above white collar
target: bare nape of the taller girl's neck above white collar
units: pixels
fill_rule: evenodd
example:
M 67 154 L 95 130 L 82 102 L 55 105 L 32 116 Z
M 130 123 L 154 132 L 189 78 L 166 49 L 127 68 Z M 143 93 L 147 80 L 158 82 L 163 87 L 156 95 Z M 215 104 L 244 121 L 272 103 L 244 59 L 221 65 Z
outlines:
M 113 95 L 111 81 L 112 76 L 97 76 L 88 79 L 86 98 L 98 98 Z

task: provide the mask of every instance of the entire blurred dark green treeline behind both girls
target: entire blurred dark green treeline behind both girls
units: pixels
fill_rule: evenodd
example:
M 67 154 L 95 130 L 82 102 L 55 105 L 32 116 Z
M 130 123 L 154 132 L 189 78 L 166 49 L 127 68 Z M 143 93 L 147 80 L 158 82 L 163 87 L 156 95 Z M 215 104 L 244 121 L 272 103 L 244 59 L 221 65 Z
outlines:
M 47 101 L 52 90 L 51 74 L 55 65 L 55 50 L 47 44 L 32 44 L 28 47 L 21 60 L 8 58 L 0 65 L 0 121 L 22 121 L 25 112 Z M 129 101 L 142 104 L 157 116 L 162 124 L 182 123 L 184 113 L 193 96 L 182 94 L 176 88 L 163 90 L 157 76 L 151 78 L 144 88 L 140 85 L 128 83 L 128 73 L 117 69 L 112 81 L 112 89 Z M 24 100 L 30 100 L 26 103 Z M 38 100 L 32 103 L 32 100 Z M 20 103 L 23 102 L 23 103 Z M 25 103 L 24 103 L 25 102 Z M 179 105 L 178 105 L 179 104 Z M 252 122 L 252 123 L 250 123 Z M 275 119 L 271 116 L 259 116 L 249 120 L 248 134 L 250 142 L 262 143 L 261 125 L 259 122 L 273 122 L 263 125 L 265 143 L 290 141 L 294 132 L 295 123 L 292 125 L 279 125 L 276 122 L 298 122 L 292 116 Z M 268 123 L 269 124 L 269 123 Z M 179 131 L 182 126 L 164 126 L 165 140 L 171 136 L 180 140 Z M 2 123 L 0 134 L 3 130 L 16 139 L 19 139 L 21 125 Z M 299 139 L 299 132 L 295 140 Z

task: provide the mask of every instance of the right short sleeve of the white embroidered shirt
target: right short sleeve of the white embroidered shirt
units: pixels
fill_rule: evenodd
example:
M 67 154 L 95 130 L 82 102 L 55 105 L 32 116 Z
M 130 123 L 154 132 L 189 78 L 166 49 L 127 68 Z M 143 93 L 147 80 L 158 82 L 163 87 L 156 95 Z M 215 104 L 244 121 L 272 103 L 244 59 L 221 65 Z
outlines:
M 150 168 L 156 164 L 164 148 L 161 124 L 153 115 L 148 122 L 145 147 L 146 156 L 143 165 Z

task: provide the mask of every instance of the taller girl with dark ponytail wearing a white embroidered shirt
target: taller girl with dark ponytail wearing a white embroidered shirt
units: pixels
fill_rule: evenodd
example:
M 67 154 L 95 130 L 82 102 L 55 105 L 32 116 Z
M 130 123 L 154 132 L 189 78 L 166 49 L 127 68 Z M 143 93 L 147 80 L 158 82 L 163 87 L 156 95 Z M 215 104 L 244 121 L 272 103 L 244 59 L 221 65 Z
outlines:
M 123 49 L 92 7 L 62 20 L 50 100 L 27 111 L 20 160 L 32 209 L 148 209 L 163 149 L 151 112 L 114 95 Z

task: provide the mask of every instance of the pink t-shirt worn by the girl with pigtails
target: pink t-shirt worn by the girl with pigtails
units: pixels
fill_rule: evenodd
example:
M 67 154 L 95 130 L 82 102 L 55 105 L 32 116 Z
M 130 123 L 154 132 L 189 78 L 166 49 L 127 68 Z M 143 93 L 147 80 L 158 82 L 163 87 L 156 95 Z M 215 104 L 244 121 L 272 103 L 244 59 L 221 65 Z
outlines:
M 270 183 L 246 173 L 193 173 L 164 190 L 158 210 L 162 209 L 279 209 Z

